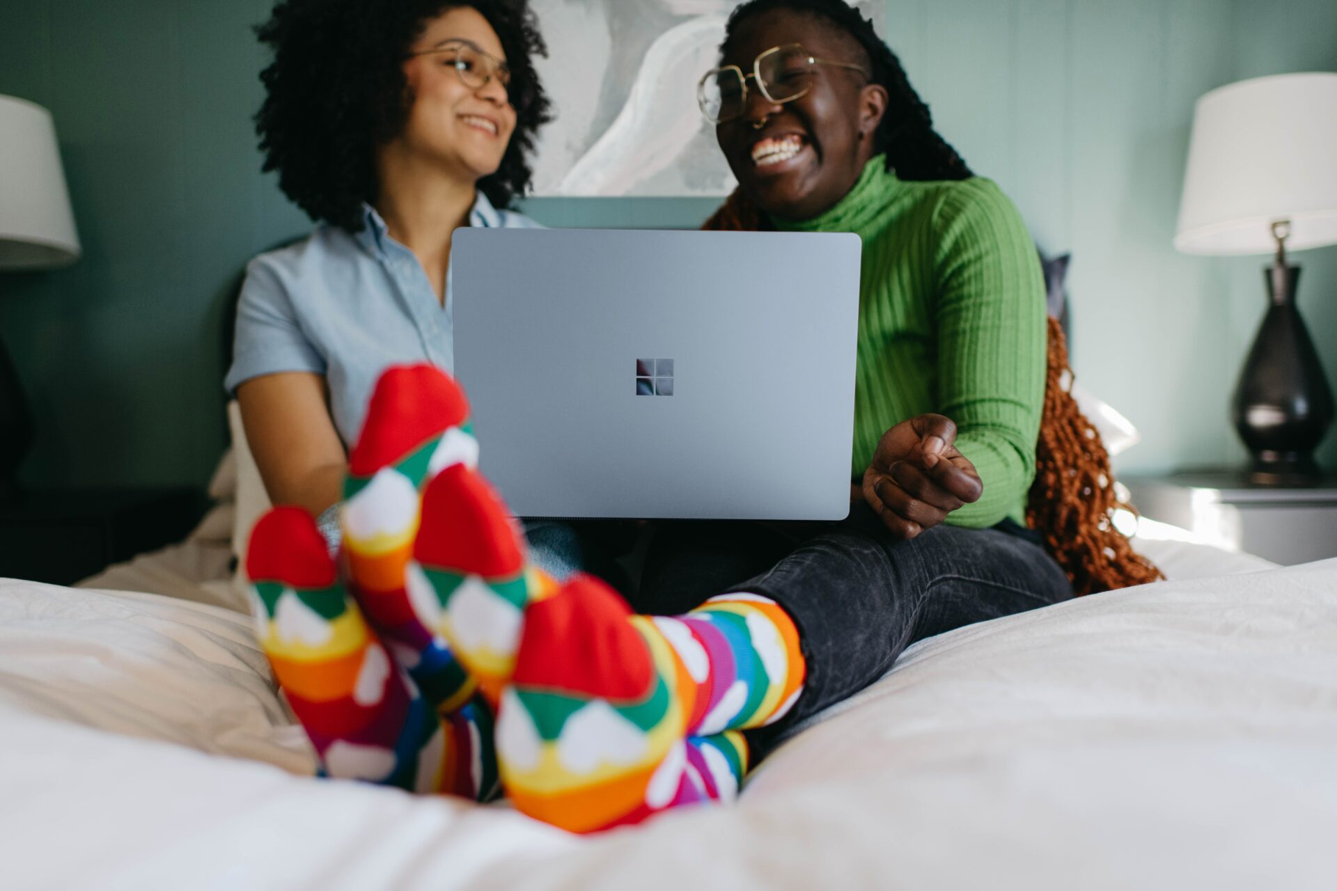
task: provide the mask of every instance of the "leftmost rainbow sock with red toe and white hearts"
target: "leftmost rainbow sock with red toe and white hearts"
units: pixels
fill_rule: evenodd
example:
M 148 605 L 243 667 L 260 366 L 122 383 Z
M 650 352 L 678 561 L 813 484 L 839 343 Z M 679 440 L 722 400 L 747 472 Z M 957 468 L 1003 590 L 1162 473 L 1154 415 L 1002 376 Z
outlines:
M 255 524 L 246 572 L 257 633 L 326 776 L 483 799 L 496 787 L 491 712 L 444 715 L 394 663 L 298 508 Z

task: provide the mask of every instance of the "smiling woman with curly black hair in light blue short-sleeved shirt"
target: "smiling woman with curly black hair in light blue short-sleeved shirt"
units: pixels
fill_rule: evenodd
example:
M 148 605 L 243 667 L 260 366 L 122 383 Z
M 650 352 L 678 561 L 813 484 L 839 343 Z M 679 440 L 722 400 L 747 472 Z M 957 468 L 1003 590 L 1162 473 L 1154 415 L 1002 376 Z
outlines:
M 453 365 L 451 234 L 536 226 L 507 208 L 550 120 L 545 47 L 501 0 L 283 0 L 258 35 L 265 170 L 318 226 L 247 267 L 226 387 L 270 498 L 333 529 L 376 378 Z

